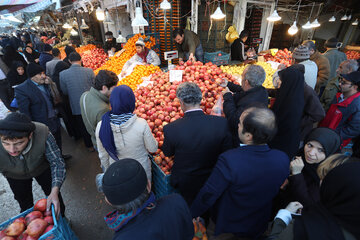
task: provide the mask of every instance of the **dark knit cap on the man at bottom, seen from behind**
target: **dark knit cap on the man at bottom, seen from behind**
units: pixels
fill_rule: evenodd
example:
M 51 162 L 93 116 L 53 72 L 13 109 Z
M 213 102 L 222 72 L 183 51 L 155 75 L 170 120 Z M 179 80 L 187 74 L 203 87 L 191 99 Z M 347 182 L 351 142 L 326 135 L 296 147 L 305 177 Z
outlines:
M 102 189 L 113 205 L 129 203 L 146 189 L 147 177 L 142 165 L 130 158 L 110 165 L 102 179 Z

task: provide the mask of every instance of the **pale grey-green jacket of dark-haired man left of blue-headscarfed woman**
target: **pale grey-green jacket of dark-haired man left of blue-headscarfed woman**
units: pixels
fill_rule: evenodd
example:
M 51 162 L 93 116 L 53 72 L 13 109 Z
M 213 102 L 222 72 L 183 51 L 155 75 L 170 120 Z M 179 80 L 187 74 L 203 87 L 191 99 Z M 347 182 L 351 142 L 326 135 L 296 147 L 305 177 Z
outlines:
M 95 130 L 102 116 L 110 111 L 109 98 L 95 88 L 84 92 L 80 98 L 81 116 L 91 141 L 96 146 Z

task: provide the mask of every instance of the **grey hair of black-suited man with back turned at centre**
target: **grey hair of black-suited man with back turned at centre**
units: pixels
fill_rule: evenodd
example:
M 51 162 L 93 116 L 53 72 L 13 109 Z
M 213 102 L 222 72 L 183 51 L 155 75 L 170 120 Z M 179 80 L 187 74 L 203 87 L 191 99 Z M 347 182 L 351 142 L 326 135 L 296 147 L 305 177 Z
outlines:
M 202 93 L 198 85 L 192 82 L 180 84 L 176 90 L 176 96 L 186 105 L 198 105 L 202 99 Z

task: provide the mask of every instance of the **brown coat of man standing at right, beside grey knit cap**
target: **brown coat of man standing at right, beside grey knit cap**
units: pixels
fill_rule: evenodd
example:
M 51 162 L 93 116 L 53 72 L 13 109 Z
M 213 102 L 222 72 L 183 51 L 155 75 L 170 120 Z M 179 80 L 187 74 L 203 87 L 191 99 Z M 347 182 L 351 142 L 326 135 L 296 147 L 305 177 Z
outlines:
M 310 60 L 314 61 L 318 67 L 318 75 L 315 87 L 318 92 L 320 87 L 325 87 L 327 81 L 329 80 L 330 63 L 329 60 L 325 56 L 321 55 L 321 53 L 317 50 L 313 55 L 310 56 Z

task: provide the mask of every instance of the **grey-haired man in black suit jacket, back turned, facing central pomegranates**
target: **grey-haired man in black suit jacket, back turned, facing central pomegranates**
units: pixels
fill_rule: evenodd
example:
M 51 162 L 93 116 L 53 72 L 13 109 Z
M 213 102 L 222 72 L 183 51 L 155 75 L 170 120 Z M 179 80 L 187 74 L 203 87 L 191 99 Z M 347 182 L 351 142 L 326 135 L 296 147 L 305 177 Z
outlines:
M 200 108 L 201 90 L 195 83 L 182 83 L 176 92 L 184 117 L 164 127 L 166 156 L 175 156 L 171 185 L 191 205 L 218 156 L 232 147 L 226 119 L 205 115 Z

